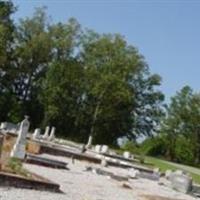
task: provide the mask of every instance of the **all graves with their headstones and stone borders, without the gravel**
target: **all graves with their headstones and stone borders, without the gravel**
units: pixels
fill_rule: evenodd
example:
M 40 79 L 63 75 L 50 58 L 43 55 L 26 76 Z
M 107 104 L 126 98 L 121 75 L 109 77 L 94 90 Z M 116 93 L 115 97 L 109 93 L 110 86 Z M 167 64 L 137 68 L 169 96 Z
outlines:
M 165 173 L 161 173 L 159 169 L 144 167 L 139 164 L 138 158 L 128 151 L 125 151 L 123 155 L 118 155 L 107 145 L 93 146 L 92 136 L 89 137 L 86 145 L 80 145 L 56 138 L 55 127 L 47 126 L 43 134 L 39 128 L 35 129 L 34 133 L 29 133 L 29 127 L 30 122 L 27 116 L 17 125 L 1 123 L 1 186 L 62 192 L 59 183 L 54 183 L 27 170 L 25 173 L 18 173 L 6 170 L 5 167 L 9 161 L 17 162 L 19 160 L 23 163 L 66 170 L 66 173 L 70 170 L 68 163 L 43 156 L 43 154 L 49 154 L 68 157 L 72 163 L 75 163 L 76 160 L 84 161 L 87 163 L 86 172 L 119 181 L 125 188 L 132 189 L 129 184 L 131 179 L 149 179 L 182 193 L 196 197 L 200 195 L 199 187 L 193 184 L 192 178 L 181 170 L 167 170 Z M 119 173 L 117 169 L 123 169 L 123 172 Z

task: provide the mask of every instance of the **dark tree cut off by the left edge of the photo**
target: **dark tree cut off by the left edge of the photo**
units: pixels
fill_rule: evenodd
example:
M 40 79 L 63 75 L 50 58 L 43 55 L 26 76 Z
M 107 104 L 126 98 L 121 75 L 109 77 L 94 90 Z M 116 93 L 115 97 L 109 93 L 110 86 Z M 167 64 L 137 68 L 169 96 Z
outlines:
M 10 1 L 0 1 L 0 121 L 10 118 L 9 112 L 16 105 L 12 92 L 12 81 L 16 75 L 13 65 L 15 26 L 11 19 L 14 11 Z

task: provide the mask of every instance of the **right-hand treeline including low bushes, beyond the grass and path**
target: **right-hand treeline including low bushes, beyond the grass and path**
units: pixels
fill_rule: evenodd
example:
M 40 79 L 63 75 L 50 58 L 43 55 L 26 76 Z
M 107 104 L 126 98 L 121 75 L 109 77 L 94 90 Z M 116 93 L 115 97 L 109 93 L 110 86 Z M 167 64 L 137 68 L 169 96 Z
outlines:
M 200 93 L 189 86 L 171 98 L 157 136 L 143 142 L 140 150 L 172 161 L 200 164 Z

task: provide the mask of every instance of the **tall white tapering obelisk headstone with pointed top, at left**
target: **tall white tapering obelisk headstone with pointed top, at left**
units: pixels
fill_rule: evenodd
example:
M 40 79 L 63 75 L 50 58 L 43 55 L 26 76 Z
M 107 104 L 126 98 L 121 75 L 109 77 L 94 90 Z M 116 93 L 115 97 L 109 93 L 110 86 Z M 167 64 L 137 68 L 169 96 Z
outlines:
M 29 126 L 30 123 L 28 121 L 28 116 L 25 116 L 25 119 L 20 124 L 17 141 L 10 154 L 11 157 L 24 159 L 26 154 L 26 135 L 28 133 Z

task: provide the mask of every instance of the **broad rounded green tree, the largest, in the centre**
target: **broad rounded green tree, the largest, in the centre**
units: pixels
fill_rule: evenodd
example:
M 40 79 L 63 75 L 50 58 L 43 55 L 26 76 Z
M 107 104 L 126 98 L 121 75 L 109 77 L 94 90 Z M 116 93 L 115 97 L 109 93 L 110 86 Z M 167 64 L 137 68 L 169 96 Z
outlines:
M 161 115 L 163 95 L 154 89 L 160 77 L 150 75 L 143 57 L 120 35 L 89 31 L 81 49 L 90 134 L 96 142 L 116 144 L 119 137 L 151 135 Z

